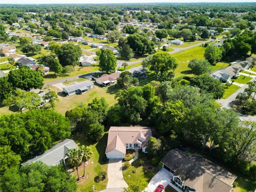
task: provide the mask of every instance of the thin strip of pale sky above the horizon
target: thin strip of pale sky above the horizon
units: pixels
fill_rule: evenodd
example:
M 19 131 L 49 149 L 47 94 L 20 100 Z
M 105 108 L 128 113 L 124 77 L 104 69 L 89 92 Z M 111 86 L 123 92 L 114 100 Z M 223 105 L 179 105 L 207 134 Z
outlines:
M 256 0 L 1 0 L 0 4 L 92 4 L 92 3 L 198 3 L 198 2 L 256 2 Z

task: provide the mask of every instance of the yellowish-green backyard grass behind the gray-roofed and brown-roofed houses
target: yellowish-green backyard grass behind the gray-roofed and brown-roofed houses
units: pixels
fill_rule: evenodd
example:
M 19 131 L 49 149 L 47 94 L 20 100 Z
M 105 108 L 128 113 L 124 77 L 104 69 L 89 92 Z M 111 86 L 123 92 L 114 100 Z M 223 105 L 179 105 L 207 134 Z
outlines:
M 55 92 L 61 92 L 55 86 L 50 86 L 50 90 Z M 47 89 L 45 87 L 45 89 Z M 59 96 L 59 102 L 56 102 L 56 107 L 54 108 L 60 114 L 65 115 L 67 110 L 74 109 L 75 107 L 81 105 L 87 105 L 91 102 L 94 98 L 105 98 L 107 103 L 111 106 L 116 102 L 115 99 L 115 85 L 110 87 L 100 87 L 94 84 L 93 89 L 90 89 L 88 92 L 83 94 L 73 94 L 67 97 Z

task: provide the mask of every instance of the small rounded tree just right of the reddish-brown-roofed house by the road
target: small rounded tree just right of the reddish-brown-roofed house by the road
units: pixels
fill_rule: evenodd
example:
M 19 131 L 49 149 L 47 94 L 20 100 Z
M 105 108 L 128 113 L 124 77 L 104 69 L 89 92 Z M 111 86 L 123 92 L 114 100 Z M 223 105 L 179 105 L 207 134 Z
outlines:
M 117 85 L 126 88 L 129 86 L 136 86 L 139 84 L 139 80 L 136 77 L 133 77 L 132 73 L 129 71 L 124 71 L 120 74 L 120 76 L 117 78 Z

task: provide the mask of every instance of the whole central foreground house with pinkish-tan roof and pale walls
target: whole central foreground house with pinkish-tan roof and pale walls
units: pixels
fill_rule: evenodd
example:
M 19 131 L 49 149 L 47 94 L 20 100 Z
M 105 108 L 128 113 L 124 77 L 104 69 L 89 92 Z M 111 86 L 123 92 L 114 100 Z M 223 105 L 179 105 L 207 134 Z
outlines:
M 143 153 L 147 153 L 147 142 L 151 136 L 149 127 L 111 126 L 108 131 L 106 156 L 109 159 L 122 159 L 126 149 L 142 149 Z

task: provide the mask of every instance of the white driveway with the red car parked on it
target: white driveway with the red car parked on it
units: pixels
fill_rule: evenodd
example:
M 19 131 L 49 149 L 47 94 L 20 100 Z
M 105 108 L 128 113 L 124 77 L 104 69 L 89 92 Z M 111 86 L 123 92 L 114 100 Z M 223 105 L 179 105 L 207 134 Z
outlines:
M 171 174 L 166 169 L 162 168 L 158 171 L 155 176 L 150 180 L 148 183 L 147 188 L 145 189 L 148 192 L 154 192 L 158 185 L 163 185 L 164 188 L 168 185 L 171 181 Z

